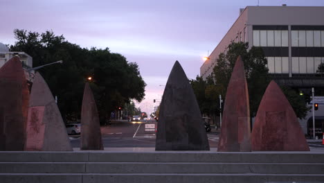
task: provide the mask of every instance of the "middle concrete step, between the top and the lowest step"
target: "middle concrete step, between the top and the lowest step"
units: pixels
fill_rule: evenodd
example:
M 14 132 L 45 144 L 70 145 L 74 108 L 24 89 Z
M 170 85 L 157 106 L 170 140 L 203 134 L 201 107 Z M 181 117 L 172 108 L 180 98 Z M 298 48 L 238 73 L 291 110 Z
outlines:
M 269 173 L 321 174 L 324 164 L 1 162 L 0 173 Z

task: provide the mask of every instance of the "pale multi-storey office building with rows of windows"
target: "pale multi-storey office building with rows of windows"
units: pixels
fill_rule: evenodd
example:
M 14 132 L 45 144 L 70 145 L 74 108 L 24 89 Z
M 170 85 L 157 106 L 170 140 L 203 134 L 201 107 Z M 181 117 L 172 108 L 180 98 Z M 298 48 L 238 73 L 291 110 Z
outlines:
M 278 85 L 307 94 L 312 87 L 323 92 L 323 17 L 324 7 L 247 6 L 201 66 L 200 76 L 205 79 L 213 72 L 219 53 L 226 52 L 231 42 L 249 42 L 249 49 L 262 47 Z

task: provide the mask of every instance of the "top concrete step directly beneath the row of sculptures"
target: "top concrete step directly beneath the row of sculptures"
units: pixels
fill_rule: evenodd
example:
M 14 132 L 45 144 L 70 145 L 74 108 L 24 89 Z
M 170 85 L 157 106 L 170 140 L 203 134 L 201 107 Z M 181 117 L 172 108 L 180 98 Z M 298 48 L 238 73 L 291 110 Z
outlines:
M 0 162 L 324 163 L 324 156 L 321 152 L 0 152 Z

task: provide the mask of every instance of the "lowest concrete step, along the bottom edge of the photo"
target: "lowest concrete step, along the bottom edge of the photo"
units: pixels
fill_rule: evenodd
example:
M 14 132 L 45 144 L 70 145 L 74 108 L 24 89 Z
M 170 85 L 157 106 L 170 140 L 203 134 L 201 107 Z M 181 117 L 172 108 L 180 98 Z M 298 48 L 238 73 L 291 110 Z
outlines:
M 2 183 L 71 183 L 71 182 L 87 182 L 87 183 L 107 183 L 107 182 L 132 182 L 132 183 L 143 183 L 143 182 L 154 182 L 154 183 L 165 183 L 165 182 L 177 182 L 177 183 L 268 183 L 268 182 L 313 182 L 319 183 L 324 182 L 323 174 L 3 174 L 0 173 L 0 182 Z

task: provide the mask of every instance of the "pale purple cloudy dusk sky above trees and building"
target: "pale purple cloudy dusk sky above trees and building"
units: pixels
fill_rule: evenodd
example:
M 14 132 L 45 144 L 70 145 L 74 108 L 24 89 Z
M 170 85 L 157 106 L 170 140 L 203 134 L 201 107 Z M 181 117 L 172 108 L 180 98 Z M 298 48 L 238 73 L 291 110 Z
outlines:
M 260 0 L 260 6 L 324 6 L 323 0 Z M 215 49 L 239 15 L 258 0 L 0 0 L 0 42 L 15 44 L 13 30 L 53 30 L 82 47 L 108 47 L 136 62 L 147 83 L 136 104 L 152 112 L 175 60 L 188 78 Z M 160 86 L 162 85 L 162 86 Z

